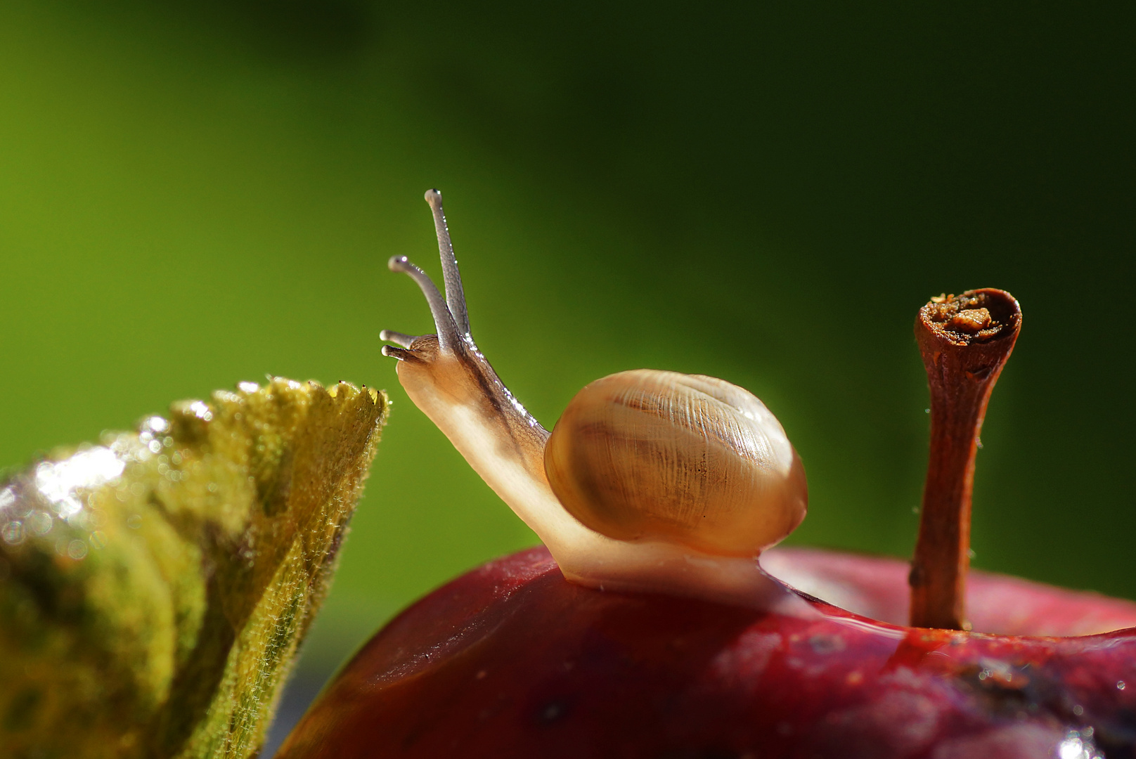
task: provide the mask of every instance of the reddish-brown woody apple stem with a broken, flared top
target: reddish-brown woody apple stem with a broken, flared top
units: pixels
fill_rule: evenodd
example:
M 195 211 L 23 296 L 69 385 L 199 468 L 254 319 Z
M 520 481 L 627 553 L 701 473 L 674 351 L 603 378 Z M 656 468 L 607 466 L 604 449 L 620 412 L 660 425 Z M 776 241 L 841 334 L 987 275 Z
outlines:
M 916 318 L 930 386 L 930 459 L 909 577 L 912 627 L 969 628 L 964 598 L 978 433 L 1020 328 L 1018 301 L 992 289 L 933 298 Z

